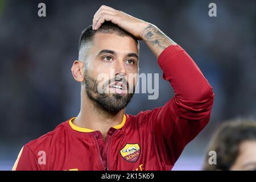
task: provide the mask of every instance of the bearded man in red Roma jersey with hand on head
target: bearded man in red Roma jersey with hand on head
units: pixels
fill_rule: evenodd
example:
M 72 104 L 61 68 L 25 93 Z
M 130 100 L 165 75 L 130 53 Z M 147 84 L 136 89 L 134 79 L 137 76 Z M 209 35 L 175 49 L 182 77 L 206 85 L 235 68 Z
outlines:
M 134 116 L 125 107 L 137 82 L 129 75 L 138 73 L 138 40 L 155 54 L 175 96 Z M 71 70 L 81 83 L 79 115 L 24 145 L 14 170 L 170 170 L 209 121 L 214 94 L 191 57 L 156 26 L 122 11 L 100 7 Z

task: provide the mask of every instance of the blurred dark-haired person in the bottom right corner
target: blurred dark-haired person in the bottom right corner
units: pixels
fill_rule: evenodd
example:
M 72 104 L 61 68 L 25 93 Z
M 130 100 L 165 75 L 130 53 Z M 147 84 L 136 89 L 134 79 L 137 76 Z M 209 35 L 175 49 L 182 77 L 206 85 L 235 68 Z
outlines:
M 239 119 L 222 123 L 209 144 L 203 170 L 256 170 L 256 122 Z M 209 151 L 216 163 L 209 163 Z M 212 160 L 213 162 L 214 160 Z

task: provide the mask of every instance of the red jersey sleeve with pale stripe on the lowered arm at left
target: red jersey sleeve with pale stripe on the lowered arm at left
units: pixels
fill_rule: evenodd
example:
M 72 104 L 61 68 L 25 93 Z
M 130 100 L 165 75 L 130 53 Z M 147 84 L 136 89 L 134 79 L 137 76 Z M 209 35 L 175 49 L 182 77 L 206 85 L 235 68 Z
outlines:
M 39 171 L 38 159 L 34 152 L 24 145 L 19 152 L 18 158 L 13 166 L 13 171 Z

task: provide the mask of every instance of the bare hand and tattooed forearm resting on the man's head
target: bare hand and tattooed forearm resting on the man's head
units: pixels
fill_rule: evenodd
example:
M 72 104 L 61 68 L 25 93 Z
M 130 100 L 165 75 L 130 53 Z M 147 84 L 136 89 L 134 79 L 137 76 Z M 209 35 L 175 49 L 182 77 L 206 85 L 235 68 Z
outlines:
M 141 19 L 104 5 L 93 16 L 93 30 L 97 30 L 105 20 L 117 24 L 117 26 L 123 28 L 123 30 L 134 35 L 139 40 L 144 40 L 156 58 L 168 46 L 176 45 L 174 41 L 168 38 L 154 24 L 144 22 Z

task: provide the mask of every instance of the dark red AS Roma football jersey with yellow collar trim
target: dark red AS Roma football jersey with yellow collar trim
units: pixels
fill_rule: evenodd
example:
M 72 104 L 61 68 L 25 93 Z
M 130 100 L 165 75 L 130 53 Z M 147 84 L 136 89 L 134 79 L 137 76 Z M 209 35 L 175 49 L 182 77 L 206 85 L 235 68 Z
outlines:
M 72 119 L 25 144 L 14 170 L 170 170 L 185 145 L 207 125 L 213 90 L 180 46 L 159 56 L 163 78 L 175 96 L 164 106 L 125 114 L 106 141 L 100 131 L 73 125 Z

